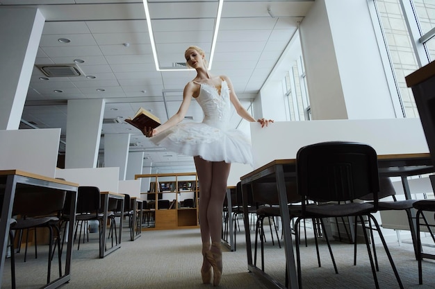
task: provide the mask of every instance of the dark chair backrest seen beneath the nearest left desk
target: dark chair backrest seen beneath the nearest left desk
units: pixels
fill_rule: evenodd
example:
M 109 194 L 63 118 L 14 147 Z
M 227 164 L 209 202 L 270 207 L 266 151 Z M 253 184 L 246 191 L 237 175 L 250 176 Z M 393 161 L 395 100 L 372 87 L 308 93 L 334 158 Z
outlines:
M 59 213 L 65 204 L 66 191 L 49 188 L 20 188 L 15 193 L 13 216 L 48 216 Z

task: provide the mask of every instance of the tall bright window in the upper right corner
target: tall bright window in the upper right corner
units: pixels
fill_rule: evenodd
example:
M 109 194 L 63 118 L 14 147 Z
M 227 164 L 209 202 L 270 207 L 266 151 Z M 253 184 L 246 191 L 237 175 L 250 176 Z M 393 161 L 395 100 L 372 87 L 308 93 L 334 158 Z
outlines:
M 388 50 L 386 67 L 392 68 L 396 100 L 402 117 L 418 117 L 405 76 L 435 60 L 434 0 L 372 0 L 381 26 L 379 42 Z

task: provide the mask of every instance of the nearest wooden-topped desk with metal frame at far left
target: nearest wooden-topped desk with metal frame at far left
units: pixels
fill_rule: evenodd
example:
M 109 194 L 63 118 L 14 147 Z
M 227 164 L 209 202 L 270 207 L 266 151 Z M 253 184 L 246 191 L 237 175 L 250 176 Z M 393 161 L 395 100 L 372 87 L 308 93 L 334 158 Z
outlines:
M 6 259 L 6 247 L 8 245 L 8 231 L 9 231 L 9 218 L 12 214 L 15 191 L 19 188 L 31 188 L 31 187 L 42 187 L 49 189 L 56 189 L 59 191 L 67 191 L 71 197 L 71 207 L 69 210 L 72 213 L 72 224 L 75 222 L 75 212 L 76 212 L 76 201 L 77 201 L 77 189 L 79 184 L 74 184 L 72 182 L 66 182 L 61 179 L 54 179 L 51 177 L 44 177 L 42 175 L 36 175 L 33 173 L 27 173 L 22 170 L 0 170 L 0 193 L 3 194 L 3 206 L 1 207 L 1 218 L 0 218 L 0 286 L 3 277 L 4 262 Z M 38 190 L 40 191 L 40 190 Z M 70 279 L 71 270 L 71 260 L 72 260 L 72 243 L 74 236 L 74 226 L 69 226 L 68 231 L 68 241 L 67 241 L 67 256 L 65 261 L 65 270 L 62 277 L 51 281 L 51 283 L 43 286 L 42 288 L 58 288 L 64 283 L 67 283 Z

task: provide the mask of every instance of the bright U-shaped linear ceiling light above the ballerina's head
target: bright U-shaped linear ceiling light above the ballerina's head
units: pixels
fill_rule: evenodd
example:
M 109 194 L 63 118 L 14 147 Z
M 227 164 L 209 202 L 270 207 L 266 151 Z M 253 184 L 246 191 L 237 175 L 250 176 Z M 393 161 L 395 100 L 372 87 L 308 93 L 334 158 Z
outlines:
M 183 71 L 183 70 L 190 70 L 188 68 L 173 68 L 173 69 L 161 69 L 158 65 L 158 59 L 157 59 L 157 51 L 156 51 L 156 42 L 154 42 L 154 33 L 153 28 L 151 26 L 151 17 L 149 17 L 149 8 L 148 8 L 148 0 L 143 0 L 144 8 L 145 8 L 145 16 L 147 17 L 147 26 L 148 26 L 148 33 L 149 33 L 149 40 L 151 42 L 151 49 L 153 51 L 153 57 L 154 57 L 154 63 L 156 64 L 156 70 L 157 71 Z M 217 32 L 219 31 L 219 25 L 220 25 L 220 17 L 222 15 L 222 6 L 224 5 L 224 0 L 219 0 L 219 3 L 217 5 L 217 15 L 216 15 L 216 22 L 215 22 L 215 30 L 213 32 L 213 40 L 211 42 L 211 51 L 210 51 L 210 58 L 208 59 L 208 69 L 211 69 L 211 64 L 213 63 L 213 57 L 215 55 L 215 46 L 217 41 Z

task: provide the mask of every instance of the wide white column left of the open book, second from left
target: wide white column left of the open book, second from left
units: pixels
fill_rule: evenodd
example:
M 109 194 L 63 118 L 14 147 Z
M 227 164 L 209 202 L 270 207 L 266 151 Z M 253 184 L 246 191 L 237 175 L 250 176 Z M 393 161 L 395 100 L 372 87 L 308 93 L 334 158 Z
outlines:
M 68 100 L 65 168 L 97 167 L 104 99 Z

